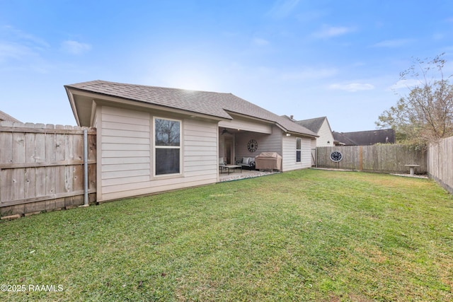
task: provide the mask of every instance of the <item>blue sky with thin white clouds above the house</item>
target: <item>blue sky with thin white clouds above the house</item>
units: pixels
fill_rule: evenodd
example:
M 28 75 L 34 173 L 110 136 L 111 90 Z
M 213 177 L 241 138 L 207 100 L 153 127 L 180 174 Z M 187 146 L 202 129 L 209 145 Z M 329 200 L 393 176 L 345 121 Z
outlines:
M 375 129 L 412 57 L 445 52 L 451 0 L 0 0 L 0 110 L 75 125 L 65 84 L 233 93 L 338 132 Z

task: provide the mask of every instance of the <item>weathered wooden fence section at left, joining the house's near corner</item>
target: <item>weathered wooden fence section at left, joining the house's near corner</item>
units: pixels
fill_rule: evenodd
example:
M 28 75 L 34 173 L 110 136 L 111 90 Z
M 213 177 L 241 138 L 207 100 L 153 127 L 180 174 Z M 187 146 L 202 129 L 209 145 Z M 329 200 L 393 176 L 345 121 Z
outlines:
M 88 198 L 96 200 L 96 129 L 0 122 L 0 216 L 84 204 L 84 129 Z

